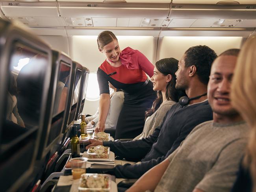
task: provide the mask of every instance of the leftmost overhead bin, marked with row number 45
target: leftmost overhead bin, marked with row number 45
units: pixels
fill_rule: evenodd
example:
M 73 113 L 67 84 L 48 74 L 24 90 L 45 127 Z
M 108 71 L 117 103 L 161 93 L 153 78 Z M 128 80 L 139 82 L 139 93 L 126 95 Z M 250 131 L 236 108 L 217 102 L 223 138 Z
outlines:
M 7 17 L 59 17 L 56 2 L 1 2 L 1 9 Z

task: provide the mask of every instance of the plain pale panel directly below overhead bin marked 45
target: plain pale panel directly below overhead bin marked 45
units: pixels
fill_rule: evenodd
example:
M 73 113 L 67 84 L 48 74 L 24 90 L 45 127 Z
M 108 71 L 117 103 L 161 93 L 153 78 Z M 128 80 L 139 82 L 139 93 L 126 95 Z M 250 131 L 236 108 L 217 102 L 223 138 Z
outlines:
M 61 17 L 8 17 L 11 20 L 19 20 L 27 26 L 66 26 Z

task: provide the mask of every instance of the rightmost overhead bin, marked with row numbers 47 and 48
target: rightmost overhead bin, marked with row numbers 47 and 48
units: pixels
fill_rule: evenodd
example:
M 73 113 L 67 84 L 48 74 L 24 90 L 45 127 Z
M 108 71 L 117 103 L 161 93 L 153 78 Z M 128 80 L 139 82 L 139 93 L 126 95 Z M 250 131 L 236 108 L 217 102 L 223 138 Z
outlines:
M 256 19 L 256 5 L 171 4 L 170 18 Z

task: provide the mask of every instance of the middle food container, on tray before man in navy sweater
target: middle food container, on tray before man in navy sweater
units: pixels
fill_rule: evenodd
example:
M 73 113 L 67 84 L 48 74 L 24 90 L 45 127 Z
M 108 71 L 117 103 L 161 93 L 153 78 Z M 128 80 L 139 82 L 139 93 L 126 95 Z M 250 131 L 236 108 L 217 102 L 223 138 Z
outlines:
M 109 158 L 109 147 L 98 145 L 95 147 L 89 147 L 87 150 L 88 158 L 96 159 L 108 159 Z

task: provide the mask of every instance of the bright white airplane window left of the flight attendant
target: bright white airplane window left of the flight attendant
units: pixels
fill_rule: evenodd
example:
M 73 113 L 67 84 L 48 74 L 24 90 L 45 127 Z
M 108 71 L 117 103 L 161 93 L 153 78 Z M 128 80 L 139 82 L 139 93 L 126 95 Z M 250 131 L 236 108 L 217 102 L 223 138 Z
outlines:
M 86 91 L 86 100 L 96 101 L 100 99 L 100 89 L 98 86 L 97 74 L 90 73 Z

